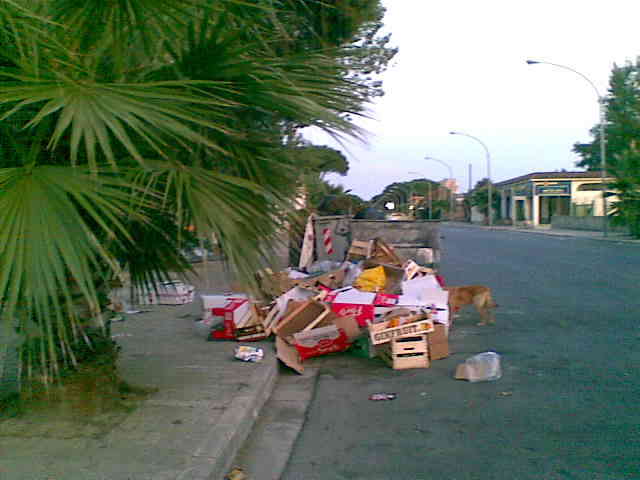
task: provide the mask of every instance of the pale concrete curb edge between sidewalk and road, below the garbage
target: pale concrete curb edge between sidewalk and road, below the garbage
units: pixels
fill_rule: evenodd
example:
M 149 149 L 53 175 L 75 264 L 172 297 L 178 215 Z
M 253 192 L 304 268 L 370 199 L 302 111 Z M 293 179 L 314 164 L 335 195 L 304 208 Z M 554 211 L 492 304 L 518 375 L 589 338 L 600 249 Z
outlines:
M 274 351 L 265 351 L 265 359 L 256 366 L 249 386 L 233 399 L 193 454 L 189 468 L 176 480 L 222 480 L 228 473 L 278 378 Z

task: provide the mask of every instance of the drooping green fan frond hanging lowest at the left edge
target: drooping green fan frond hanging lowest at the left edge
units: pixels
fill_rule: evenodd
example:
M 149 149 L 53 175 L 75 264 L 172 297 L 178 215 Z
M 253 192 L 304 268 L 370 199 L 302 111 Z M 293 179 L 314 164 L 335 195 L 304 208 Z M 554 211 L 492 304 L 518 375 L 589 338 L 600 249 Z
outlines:
M 71 351 L 69 332 L 80 331 L 77 296 L 100 311 L 96 275 L 113 258 L 97 235 L 126 239 L 121 219 L 137 215 L 124 187 L 69 167 L 0 169 L 0 318 L 41 326 L 53 372 Z

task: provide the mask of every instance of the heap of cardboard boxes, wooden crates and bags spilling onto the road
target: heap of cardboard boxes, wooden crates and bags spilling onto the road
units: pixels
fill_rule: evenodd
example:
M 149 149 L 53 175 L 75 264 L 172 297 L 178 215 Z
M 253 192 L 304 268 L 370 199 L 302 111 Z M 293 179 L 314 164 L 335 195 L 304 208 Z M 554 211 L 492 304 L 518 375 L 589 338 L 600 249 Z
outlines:
M 346 350 L 380 357 L 394 369 L 428 368 L 449 355 L 451 317 L 442 277 L 400 258 L 381 239 L 353 241 L 342 263 L 266 269 L 257 278 L 266 300 L 201 295 L 197 331 L 208 340 L 273 336 L 278 358 L 299 373 L 309 358 Z M 242 359 L 260 357 L 251 353 L 245 348 Z

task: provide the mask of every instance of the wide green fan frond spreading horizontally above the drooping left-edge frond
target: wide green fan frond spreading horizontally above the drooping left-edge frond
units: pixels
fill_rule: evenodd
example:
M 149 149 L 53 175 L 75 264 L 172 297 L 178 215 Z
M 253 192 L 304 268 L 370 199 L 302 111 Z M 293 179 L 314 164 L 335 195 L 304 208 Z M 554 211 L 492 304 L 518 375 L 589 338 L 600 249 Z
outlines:
M 5 72 L 5 75 L 9 74 Z M 166 151 L 176 145 L 189 148 L 188 145 L 194 144 L 224 153 L 196 127 L 223 135 L 238 134 L 226 128 L 221 121 L 224 114 L 219 112 L 221 105 L 233 105 L 231 102 L 188 91 L 189 88 L 201 89 L 204 82 L 60 85 L 53 81 L 20 80 L 22 82 L 6 83 L 0 91 L 0 104 L 13 105 L 0 120 L 32 104 L 42 104 L 25 127 L 37 125 L 55 114 L 56 126 L 49 148 L 55 149 L 64 136 L 69 135 L 72 163 L 77 162 L 83 142 L 84 153 L 93 169 L 98 168 L 103 158 L 117 164 L 112 148 L 114 140 L 142 162 L 141 142 L 161 156 L 166 156 Z M 207 86 L 218 85 L 208 82 Z

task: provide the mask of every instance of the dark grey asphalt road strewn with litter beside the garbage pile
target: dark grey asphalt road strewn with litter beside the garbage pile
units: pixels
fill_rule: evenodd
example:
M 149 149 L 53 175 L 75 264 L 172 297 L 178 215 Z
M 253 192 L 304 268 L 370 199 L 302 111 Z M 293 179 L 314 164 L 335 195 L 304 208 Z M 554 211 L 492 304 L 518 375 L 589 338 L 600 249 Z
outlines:
M 425 370 L 323 357 L 282 478 L 640 479 L 640 248 L 462 227 L 443 235 L 447 283 L 491 286 L 497 325 L 463 311 L 453 354 Z M 488 350 L 501 355 L 500 380 L 452 378 Z M 398 397 L 369 401 L 375 392 Z

